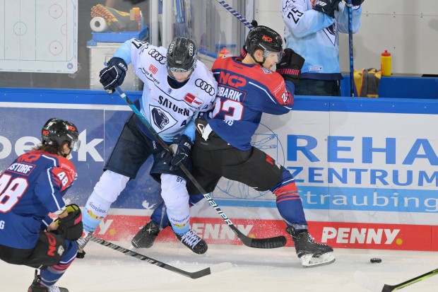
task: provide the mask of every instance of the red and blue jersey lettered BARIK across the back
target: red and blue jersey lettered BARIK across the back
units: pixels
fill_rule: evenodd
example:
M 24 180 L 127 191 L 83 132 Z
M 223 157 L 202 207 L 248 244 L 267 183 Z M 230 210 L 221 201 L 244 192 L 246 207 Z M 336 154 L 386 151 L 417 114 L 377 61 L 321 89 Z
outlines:
M 243 64 L 237 57 L 217 59 L 212 71 L 218 93 L 206 120 L 220 138 L 235 148 L 251 148 L 251 136 L 263 112 L 283 115 L 292 110 L 295 86 L 274 71 L 259 64 Z

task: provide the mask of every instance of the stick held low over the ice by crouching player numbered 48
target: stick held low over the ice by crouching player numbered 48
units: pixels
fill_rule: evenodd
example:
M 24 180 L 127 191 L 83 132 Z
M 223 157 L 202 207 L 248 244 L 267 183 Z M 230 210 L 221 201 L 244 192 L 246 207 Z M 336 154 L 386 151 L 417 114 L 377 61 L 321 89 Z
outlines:
M 131 257 L 136 257 L 137 259 L 141 259 L 142 261 L 148 262 L 149 264 L 155 264 L 155 266 L 158 266 L 163 269 L 167 269 L 169 271 L 173 271 L 177 274 L 180 274 L 182 276 L 187 276 L 191 279 L 198 279 L 203 276 L 207 276 L 210 274 L 215 274 L 220 271 L 225 271 L 227 269 L 230 269 L 232 267 L 232 264 L 230 262 L 222 262 L 220 264 L 215 264 L 212 267 L 208 267 L 206 269 L 201 269 L 200 271 L 184 271 L 182 269 L 178 269 L 177 267 L 172 267 L 170 264 L 166 264 L 164 262 L 160 262 L 156 259 L 153 259 L 152 257 L 146 257 L 146 255 L 141 255 L 138 252 L 134 252 L 134 250 L 128 250 L 127 248 L 121 247 L 120 245 L 116 245 L 114 243 L 109 243 L 107 240 L 103 240 L 100 238 L 96 238 L 93 235 L 88 235 L 88 239 L 91 241 L 94 241 L 95 243 L 99 243 L 100 245 L 106 246 L 111 248 L 112 250 L 117 250 L 118 252 L 122 252 L 125 255 L 130 255 Z

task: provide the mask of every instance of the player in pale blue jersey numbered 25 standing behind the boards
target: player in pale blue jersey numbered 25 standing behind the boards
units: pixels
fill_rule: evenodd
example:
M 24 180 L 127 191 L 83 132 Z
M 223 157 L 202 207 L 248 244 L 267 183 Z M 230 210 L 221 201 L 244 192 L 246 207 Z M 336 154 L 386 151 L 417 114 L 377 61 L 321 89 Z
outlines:
M 353 0 L 352 32 L 360 29 L 362 2 Z M 283 0 L 286 47 L 306 61 L 296 95 L 341 95 L 339 33 L 348 33 L 346 0 Z

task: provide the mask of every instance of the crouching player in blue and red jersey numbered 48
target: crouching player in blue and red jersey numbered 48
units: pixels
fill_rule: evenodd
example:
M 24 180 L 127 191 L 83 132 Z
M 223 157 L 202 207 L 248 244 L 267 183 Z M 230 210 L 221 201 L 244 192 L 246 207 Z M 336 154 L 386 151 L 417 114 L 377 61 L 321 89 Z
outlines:
M 76 126 L 49 119 L 42 143 L 0 175 L 0 259 L 40 269 L 28 292 L 69 291 L 54 284 L 76 259 L 82 235 L 81 209 L 62 199 L 76 179 L 68 158 L 78 148 Z

